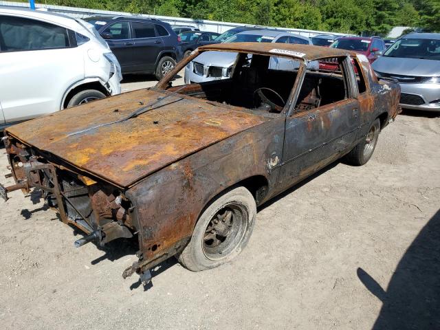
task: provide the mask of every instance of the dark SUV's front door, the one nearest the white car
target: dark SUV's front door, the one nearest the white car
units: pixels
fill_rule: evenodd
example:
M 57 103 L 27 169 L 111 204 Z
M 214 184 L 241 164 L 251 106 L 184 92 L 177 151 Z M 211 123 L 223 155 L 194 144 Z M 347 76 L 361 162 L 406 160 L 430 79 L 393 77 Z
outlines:
M 107 41 L 111 51 L 118 58 L 122 72 L 133 71 L 133 46 L 135 44 L 131 36 L 130 23 L 118 21 L 111 23 L 100 32 L 102 38 Z

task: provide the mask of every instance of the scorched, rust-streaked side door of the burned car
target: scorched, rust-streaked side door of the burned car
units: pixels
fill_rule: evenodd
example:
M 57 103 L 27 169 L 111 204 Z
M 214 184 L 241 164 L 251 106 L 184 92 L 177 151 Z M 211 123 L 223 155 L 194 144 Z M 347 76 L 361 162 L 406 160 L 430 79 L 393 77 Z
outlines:
M 344 70 L 340 74 L 340 79 L 344 83 L 338 87 L 341 90 L 334 90 L 334 94 L 341 95 L 341 99 L 324 105 L 315 103 L 314 107 L 308 108 L 303 107 L 303 103 L 297 103 L 292 114 L 286 118 L 283 166 L 280 173 L 280 184 L 283 187 L 300 181 L 338 159 L 352 147 L 355 141 L 360 120 L 360 104 L 351 88 L 353 84 L 350 78 L 351 72 L 346 71 L 347 68 L 351 69 L 349 67 L 351 63 L 347 58 L 339 58 L 338 61 L 343 63 L 340 65 Z M 309 88 L 309 85 L 313 84 L 307 83 L 308 75 L 313 77 L 314 73 L 306 70 L 298 102 L 301 100 L 311 102 L 311 94 L 331 95 L 333 91 L 322 89 L 313 91 Z M 319 82 L 319 79 L 317 81 Z M 329 89 L 329 87 L 331 85 L 322 88 Z M 307 94 L 309 89 L 311 93 Z M 307 96 L 303 98 L 306 94 Z

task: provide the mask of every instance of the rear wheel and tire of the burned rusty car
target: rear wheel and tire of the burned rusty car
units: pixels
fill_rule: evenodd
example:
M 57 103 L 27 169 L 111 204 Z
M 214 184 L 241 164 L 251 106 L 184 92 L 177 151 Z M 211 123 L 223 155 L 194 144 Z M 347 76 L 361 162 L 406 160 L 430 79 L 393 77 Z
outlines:
M 380 120 L 376 119 L 371 124 L 369 133 L 366 133 L 365 139 L 362 140 L 357 146 L 353 148 L 350 153 L 345 156 L 345 160 L 348 164 L 361 166 L 366 164 L 373 155 L 376 148 L 377 139 L 380 133 Z

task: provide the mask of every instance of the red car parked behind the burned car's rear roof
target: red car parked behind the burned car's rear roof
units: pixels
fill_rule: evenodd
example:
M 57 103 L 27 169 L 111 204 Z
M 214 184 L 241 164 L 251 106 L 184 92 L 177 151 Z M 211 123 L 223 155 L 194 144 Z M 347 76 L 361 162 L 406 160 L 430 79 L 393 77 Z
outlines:
M 386 50 L 383 39 L 378 36 L 343 36 L 333 42 L 330 47 L 364 54 L 370 63 L 373 63 Z M 338 69 L 338 64 L 331 61 L 320 61 L 319 68 L 335 71 Z

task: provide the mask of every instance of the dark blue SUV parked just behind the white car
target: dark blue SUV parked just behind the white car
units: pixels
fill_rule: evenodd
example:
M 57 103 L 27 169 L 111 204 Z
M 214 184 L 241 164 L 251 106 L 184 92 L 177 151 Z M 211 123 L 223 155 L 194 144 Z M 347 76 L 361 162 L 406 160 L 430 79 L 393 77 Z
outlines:
M 143 17 L 88 17 L 109 44 L 122 74 L 155 74 L 162 78 L 181 60 L 179 37 L 168 23 Z

